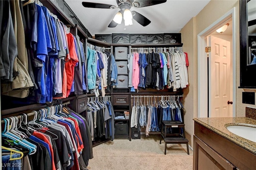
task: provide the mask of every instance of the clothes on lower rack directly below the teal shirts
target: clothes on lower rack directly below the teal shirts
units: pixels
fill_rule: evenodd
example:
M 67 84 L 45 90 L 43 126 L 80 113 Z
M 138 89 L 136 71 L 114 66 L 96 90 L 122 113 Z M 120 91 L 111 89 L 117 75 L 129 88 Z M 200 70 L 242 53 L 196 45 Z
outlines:
M 114 140 L 114 110 L 110 96 L 87 97 L 87 121 L 92 140 L 99 142 Z

